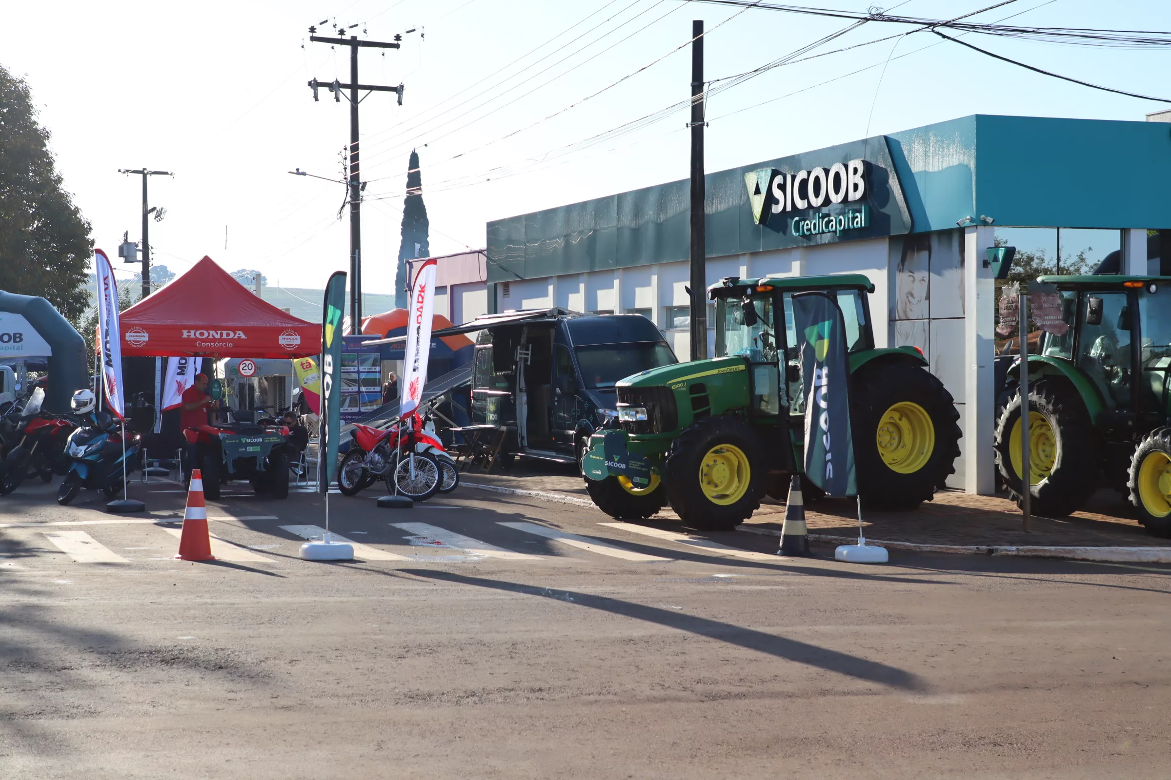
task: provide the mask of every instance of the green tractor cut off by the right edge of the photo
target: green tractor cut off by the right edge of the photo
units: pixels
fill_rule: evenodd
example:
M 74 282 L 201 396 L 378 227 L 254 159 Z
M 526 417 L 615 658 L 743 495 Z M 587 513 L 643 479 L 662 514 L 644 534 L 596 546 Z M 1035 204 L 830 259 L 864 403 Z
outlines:
M 1098 485 L 1129 495 L 1148 533 L 1171 537 L 1171 277 L 1042 276 L 1069 330 L 1029 356 L 1032 510 L 1060 517 Z M 1009 379 L 1019 380 L 1019 361 Z M 1021 497 L 1020 394 L 997 421 L 997 464 Z

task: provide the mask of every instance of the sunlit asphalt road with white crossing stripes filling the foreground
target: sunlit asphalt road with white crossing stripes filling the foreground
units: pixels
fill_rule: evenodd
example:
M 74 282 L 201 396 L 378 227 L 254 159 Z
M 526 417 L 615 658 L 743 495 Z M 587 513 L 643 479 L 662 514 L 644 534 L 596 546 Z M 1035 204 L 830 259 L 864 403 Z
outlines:
M 464 488 L 335 495 L 364 547 L 311 564 L 321 497 L 246 486 L 192 564 L 174 486 L 54 489 L 0 498 L 0 778 L 1171 773 L 1171 568 L 787 560 Z

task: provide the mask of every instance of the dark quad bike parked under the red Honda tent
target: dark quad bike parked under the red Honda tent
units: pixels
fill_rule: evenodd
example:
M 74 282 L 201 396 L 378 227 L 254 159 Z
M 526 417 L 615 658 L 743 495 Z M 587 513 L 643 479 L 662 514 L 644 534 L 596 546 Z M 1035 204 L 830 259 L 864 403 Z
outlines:
M 258 496 L 288 497 L 288 428 L 222 423 L 183 433 L 196 446 L 196 462 L 186 469 L 187 478 L 191 468 L 201 469 L 207 498 L 219 498 L 220 485 L 232 479 L 247 479 Z

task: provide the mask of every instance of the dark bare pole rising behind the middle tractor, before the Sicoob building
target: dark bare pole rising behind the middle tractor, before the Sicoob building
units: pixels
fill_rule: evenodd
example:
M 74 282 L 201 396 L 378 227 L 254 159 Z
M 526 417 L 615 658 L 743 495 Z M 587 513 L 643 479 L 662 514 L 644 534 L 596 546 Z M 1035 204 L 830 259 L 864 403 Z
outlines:
M 704 232 L 704 21 L 691 22 L 691 359 L 707 358 L 707 247 Z

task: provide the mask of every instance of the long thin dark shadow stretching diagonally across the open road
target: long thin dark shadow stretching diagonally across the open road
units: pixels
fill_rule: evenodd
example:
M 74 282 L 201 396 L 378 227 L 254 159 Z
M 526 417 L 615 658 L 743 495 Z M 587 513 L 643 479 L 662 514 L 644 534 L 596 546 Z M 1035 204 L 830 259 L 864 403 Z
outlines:
M 508 582 L 506 580 L 465 577 L 452 572 L 437 572 L 423 568 L 399 570 L 399 572 L 413 574 L 415 577 L 423 579 L 444 580 L 457 585 L 470 585 L 481 588 L 492 588 L 495 591 L 506 591 L 508 593 L 535 595 L 545 599 L 552 599 L 554 601 L 564 601 L 580 607 L 598 609 L 614 615 L 622 615 L 634 620 L 643 620 L 649 623 L 657 623 L 659 626 L 665 626 L 680 631 L 687 631 L 698 636 L 706 636 L 708 639 L 735 644 L 748 650 L 767 653 L 768 655 L 776 656 L 778 658 L 785 658 L 786 661 L 795 661 L 797 663 L 816 667 L 819 669 L 826 669 L 827 671 L 836 671 L 842 675 L 865 679 L 872 683 L 879 683 L 882 685 L 890 685 L 892 688 L 899 688 L 909 691 L 924 691 L 927 689 L 927 683 L 918 675 L 898 669 L 897 667 L 889 667 L 884 663 L 868 661 L 847 653 L 820 648 L 807 642 L 799 642 L 796 640 L 766 634 L 765 631 L 758 631 L 751 628 L 741 628 L 740 626 L 733 626 L 731 623 L 724 623 L 707 617 L 685 615 L 667 609 L 660 609 L 658 607 L 648 607 L 631 601 L 591 595 L 588 593 L 578 593 L 576 591 L 553 591 L 550 588 L 539 588 L 530 585 L 521 585 L 519 582 Z

